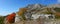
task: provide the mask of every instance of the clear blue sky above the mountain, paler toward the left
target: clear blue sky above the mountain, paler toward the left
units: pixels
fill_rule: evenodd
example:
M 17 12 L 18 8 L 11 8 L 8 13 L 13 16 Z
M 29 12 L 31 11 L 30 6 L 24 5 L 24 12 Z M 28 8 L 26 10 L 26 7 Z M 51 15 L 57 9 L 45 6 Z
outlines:
M 8 15 L 17 12 L 19 8 L 26 7 L 28 4 L 56 4 L 60 0 L 0 0 L 0 15 Z

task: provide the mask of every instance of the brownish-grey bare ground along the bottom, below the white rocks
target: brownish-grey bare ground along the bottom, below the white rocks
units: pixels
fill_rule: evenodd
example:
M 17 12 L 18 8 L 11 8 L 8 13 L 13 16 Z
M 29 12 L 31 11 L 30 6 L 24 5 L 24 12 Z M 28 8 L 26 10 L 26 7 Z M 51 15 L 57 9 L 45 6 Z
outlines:
M 25 20 L 25 21 L 19 21 L 14 24 L 60 24 L 60 19 L 54 19 L 54 20 Z

